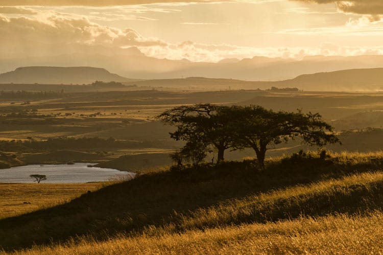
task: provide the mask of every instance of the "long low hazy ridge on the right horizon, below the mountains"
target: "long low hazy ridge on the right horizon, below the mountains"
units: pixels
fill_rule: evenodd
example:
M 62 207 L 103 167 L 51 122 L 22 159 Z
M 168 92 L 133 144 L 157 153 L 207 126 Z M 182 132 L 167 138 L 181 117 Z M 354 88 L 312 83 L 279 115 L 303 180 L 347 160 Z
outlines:
M 126 82 L 125 84 L 133 84 Z M 215 87 L 216 89 L 268 89 L 295 87 L 311 91 L 378 91 L 383 90 L 383 68 L 347 69 L 327 73 L 305 74 L 284 81 L 244 81 L 188 77 L 184 79 L 157 79 L 136 81 L 138 86 L 152 87 Z

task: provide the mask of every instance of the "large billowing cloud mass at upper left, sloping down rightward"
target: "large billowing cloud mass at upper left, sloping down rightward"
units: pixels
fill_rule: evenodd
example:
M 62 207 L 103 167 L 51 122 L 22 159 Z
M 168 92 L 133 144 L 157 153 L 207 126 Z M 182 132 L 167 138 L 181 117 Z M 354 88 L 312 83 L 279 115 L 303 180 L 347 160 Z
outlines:
M 81 15 L 42 12 L 35 17 L 0 16 L 0 43 L 39 41 L 47 44 L 81 43 L 110 47 L 163 45 L 158 39 L 143 38 L 133 29 L 101 26 Z

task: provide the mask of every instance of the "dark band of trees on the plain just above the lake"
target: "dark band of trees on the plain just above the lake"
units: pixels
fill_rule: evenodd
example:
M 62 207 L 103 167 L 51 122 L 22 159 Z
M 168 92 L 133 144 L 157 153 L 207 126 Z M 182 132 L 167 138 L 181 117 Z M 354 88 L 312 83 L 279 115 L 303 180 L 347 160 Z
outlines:
M 155 147 L 156 141 L 121 141 L 110 137 L 107 139 L 99 137 L 58 137 L 48 140 L 12 140 L 0 141 L 0 151 L 55 151 L 55 150 L 95 150 L 95 149 L 124 149 L 124 148 L 148 148 Z

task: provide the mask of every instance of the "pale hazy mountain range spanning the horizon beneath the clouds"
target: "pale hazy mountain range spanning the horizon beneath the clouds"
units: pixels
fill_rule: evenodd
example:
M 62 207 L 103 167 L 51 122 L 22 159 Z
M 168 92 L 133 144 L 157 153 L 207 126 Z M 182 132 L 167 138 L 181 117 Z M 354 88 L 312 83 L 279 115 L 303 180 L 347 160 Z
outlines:
M 382 55 L 362 56 L 306 56 L 292 58 L 268 58 L 255 56 L 244 59 L 223 59 L 217 63 L 192 62 L 187 59 L 169 60 L 148 57 L 137 48 L 127 49 L 73 45 L 61 47 L 41 45 L 41 50 L 30 50 L 28 56 L 5 58 L 0 54 L 0 73 L 23 66 L 99 66 L 111 73 L 134 79 L 175 79 L 185 77 L 226 78 L 251 81 L 281 81 L 302 74 L 333 72 L 344 69 L 383 67 Z M 61 55 L 52 56 L 55 49 Z M 45 49 L 45 51 L 43 50 Z M 47 52 L 47 53 L 46 53 Z M 1 53 L 1 51 L 0 51 Z

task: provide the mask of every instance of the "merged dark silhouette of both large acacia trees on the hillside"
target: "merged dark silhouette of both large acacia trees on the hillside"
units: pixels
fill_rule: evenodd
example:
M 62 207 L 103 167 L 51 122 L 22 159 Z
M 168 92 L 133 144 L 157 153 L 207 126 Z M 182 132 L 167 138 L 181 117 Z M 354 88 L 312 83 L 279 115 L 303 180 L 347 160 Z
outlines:
M 224 159 L 227 149 L 252 148 L 259 166 L 263 168 L 270 145 L 295 137 L 319 147 L 340 142 L 333 128 L 322 120 L 319 113 L 305 114 L 300 110 L 275 112 L 254 105 L 197 104 L 166 110 L 158 118 L 177 127 L 170 135 L 177 141 L 186 142 L 179 153 L 187 158 L 194 157 L 195 166 L 206 156 L 209 147 L 217 151 L 217 162 Z

